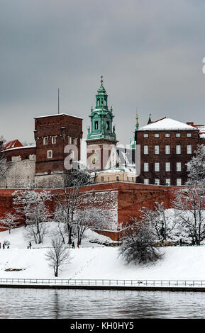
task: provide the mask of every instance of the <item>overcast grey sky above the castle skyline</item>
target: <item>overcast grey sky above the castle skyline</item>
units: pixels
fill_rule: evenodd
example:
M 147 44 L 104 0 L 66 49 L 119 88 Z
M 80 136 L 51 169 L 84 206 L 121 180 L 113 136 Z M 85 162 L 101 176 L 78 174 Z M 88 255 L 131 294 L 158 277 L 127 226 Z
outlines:
M 0 0 L 0 135 L 34 142 L 33 118 L 84 118 L 104 75 L 121 143 L 167 115 L 205 123 L 205 1 Z

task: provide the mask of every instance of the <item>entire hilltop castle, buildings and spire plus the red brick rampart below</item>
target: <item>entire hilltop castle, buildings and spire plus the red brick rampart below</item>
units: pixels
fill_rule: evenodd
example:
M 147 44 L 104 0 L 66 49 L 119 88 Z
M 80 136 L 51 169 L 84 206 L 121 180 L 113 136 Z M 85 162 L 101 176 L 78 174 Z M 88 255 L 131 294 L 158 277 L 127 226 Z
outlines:
M 153 208 L 156 201 L 163 201 L 165 208 L 171 207 L 174 191 L 187 181 L 187 162 L 196 146 L 205 142 L 205 126 L 165 117 L 155 122 L 149 118 L 147 125 L 139 127 L 137 115 L 134 140 L 129 152 L 123 152 L 122 162 L 102 77 L 89 117 L 87 161 L 96 178 L 80 191 L 92 194 L 91 202 L 99 209 L 102 203 L 109 208 L 110 227 L 102 233 L 116 240 L 119 226 L 137 216 L 143 206 Z M 34 137 L 35 145 L 23 146 L 18 140 L 3 145 L 1 154 L 10 167 L 0 181 L 0 215 L 13 210 L 15 188 L 34 184 L 61 191 L 67 172 L 81 159 L 82 118 L 65 113 L 36 117 Z

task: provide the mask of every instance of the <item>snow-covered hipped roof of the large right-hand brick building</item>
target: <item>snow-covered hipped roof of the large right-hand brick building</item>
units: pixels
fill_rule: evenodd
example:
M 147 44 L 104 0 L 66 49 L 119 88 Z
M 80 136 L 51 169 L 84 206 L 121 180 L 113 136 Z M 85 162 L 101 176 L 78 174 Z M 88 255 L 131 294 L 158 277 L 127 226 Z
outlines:
M 139 130 L 198 130 L 198 129 L 194 128 L 193 126 L 181 123 L 178 120 L 165 117 L 153 123 L 145 125 L 139 128 Z

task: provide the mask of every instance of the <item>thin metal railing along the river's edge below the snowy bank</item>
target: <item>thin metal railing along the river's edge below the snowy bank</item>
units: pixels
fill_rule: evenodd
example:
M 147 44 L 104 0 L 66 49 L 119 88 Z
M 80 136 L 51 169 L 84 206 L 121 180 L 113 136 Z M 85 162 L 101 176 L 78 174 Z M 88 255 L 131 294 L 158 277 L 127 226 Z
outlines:
M 23 286 L 110 286 L 110 287 L 197 287 L 205 288 L 205 281 L 195 280 L 112 280 L 59 278 L 0 278 L 0 285 Z

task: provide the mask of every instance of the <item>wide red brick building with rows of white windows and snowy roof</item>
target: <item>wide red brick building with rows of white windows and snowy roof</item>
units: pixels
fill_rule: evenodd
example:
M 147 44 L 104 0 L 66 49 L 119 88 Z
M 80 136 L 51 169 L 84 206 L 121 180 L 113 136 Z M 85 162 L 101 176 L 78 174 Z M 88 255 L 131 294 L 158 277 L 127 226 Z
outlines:
M 137 183 L 180 186 L 187 181 L 187 162 L 200 142 L 199 129 L 170 118 L 135 131 L 140 145 Z

